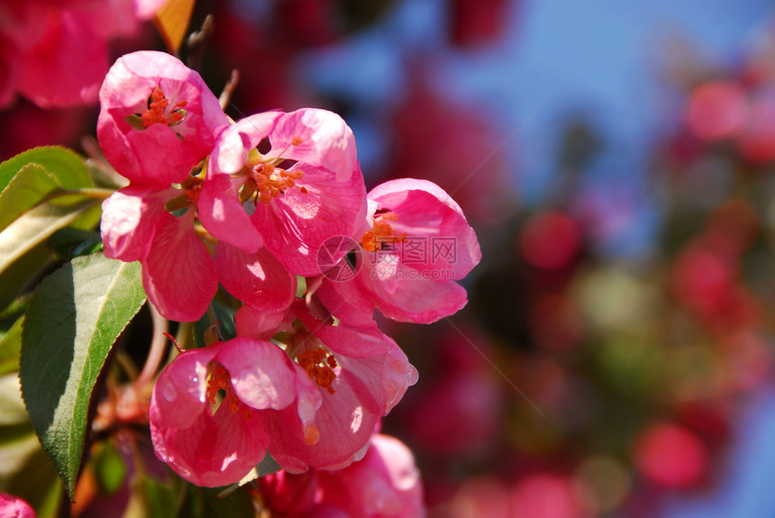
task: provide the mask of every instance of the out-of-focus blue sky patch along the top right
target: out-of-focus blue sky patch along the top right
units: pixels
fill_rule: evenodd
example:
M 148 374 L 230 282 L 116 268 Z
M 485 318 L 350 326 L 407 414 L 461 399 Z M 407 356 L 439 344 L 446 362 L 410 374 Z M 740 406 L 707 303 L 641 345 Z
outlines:
M 380 117 L 400 102 L 406 63 L 423 55 L 445 95 L 489 114 L 513 160 L 515 190 L 541 204 L 552 186 L 556 140 L 570 114 L 591 119 L 607 150 L 589 182 L 644 191 L 652 142 L 671 116 L 658 74 L 669 42 L 691 41 L 702 59 L 734 63 L 770 23 L 770 0 L 520 0 L 506 13 L 500 41 L 454 50 L 446 41 L 443 0 L 406 0 L 377 27 L 338 47 L 315 51 L 298 74 L 346 95 L 361 117 L 348 118 L 364 171 L 384 153 Z M 644 203 L 634 223 L 607 243 L 607 253 L 647 252 L 659 207 Z

